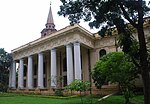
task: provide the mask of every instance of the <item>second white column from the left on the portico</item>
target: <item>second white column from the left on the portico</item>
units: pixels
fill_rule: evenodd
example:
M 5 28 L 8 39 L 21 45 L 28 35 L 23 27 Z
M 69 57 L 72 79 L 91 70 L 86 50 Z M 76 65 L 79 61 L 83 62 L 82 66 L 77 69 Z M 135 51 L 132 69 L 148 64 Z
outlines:
M 24 71 L 24 63 L 23 59 L 20 59 L 20 67 L 18 71 L 18 88 L 23 89 L 23 71 Z

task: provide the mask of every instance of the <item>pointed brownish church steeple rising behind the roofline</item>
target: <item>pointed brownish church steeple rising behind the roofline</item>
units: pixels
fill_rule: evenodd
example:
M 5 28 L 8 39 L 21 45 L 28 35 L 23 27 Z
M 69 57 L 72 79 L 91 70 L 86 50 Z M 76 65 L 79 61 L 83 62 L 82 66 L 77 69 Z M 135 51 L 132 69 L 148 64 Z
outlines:
M 41 31 L 41 37 L 50 35 L 50 34 L 52 34 L 52 33 L 57 31 L 55 29 L 55 24 L 54 24 L 54 20 L 53 20 L 53 14 L 52 14 L 52 10 L 51 10 L 51 4 L 50 4 L 48 17 L 47 17 L 47 23 L 45 24 L 45 26 L 46 26 L 46 28 L 44 28 Z

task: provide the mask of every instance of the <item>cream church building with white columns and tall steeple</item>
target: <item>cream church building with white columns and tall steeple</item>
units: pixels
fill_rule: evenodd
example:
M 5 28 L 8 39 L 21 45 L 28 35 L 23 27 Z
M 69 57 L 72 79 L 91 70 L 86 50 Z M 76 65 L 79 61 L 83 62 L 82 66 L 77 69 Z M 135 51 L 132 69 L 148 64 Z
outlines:
M 10 91 L 48 94 L 75 79 L 90 81 L 95 88 L 91 70 L 100 57 L 119 51 L 116 34 L 101 38 L 78 24 L 56 30 L 51 6 L 45 26 L 39 39 L 12 50 Z M 145 31 L 147 35 L 150 33 L 150 25 Z M 60 77 L 63 80 L 58 83 Z M 106 83 L 102 88 L 116 90 L 117 85 Z

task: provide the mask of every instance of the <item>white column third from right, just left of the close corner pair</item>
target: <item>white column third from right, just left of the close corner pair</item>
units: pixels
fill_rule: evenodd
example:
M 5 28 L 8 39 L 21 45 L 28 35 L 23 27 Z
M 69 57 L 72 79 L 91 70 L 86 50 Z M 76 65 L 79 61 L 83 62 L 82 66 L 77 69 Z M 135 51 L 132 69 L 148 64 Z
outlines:
M 57 87 L 57 61 L 56 61 L 56 49 L 51 50 L 51 87 Z

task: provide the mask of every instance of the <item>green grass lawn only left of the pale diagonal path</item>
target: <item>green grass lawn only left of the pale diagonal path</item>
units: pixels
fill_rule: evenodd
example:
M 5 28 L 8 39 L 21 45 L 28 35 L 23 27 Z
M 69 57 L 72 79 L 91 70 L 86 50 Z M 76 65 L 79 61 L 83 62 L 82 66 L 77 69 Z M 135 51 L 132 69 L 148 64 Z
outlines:
M 93 99 L 93 104 L 96 103 L 98 98 Z M 89 97 L 83 98 L 84 104 L 91 104 Z M 0 96 L 0 104 L 82 104 L 80 97 L 56 99 L 56 98 L 43 98 L 35 96 L 22 96 L 22 95 L 10 95 Z

